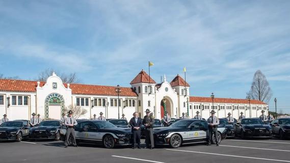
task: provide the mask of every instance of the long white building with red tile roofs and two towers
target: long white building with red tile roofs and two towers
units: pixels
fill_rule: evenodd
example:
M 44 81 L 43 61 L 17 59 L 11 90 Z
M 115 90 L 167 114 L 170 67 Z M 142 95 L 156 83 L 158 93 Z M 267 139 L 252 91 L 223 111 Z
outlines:
M 172 118 L 186 113 L 189 118 L 200 115 L 207 119 L 214 105 L 219 118 L 231 113 L 238 118 L 243 112 L 246 117 L 259 117 L 261 110 L 268 114 L 268 105 L 258 100 L 190 96 L 190 85 L 181 76 L 169 83 L 166 76 L 161 84 L 156 84 L 142 70 L 130 83 L 131 87 L 116 87 L 84 84 L 64 84 L 53 73 L 46 82 L 0 79 L 0 114 L 10 120 L 30 119 L 32 113 L 40 114 L 42 119 L 60 119 L 65 108 L 80 106 L 87 114 L 80 118 L 90 119 L 100 112 L 106 118 L 130 118 L 134 112 L 143 117 L 149 110 L 158 119 L 164 117 L 165 110 Z M 118 100 L 119 99 L 119 100 Z

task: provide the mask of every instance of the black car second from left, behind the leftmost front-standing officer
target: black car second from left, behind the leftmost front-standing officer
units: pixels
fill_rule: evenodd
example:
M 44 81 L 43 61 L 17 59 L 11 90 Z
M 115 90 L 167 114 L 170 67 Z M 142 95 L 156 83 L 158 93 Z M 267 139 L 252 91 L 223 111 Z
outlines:
M 30 140 L 52 139 L 59 141 L 65 133 L 62 131 L 66 128 L 59 120 L 47 120 L 40 122 L 36 127 L 29 131 Z

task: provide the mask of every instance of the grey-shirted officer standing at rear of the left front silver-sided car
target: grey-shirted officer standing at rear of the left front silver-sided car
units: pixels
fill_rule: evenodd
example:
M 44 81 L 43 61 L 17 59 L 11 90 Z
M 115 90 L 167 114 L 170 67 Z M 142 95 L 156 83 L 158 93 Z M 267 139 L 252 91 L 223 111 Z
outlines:
M 76 143 L 75 143 L 75 132 L 74 132 L 74 126 L 77 125 L 76 120 L 72 117 L 72 111 L 68 111 L 68 117 L 65 120 L 65 125 L 67 126 L 66 129 L 66 135 L 65 135 L 65 148 L 67 148 L 68 146 L 68 139 L 70 134 L 72 135 L 72 145 L 74 147 L 77 147 Z

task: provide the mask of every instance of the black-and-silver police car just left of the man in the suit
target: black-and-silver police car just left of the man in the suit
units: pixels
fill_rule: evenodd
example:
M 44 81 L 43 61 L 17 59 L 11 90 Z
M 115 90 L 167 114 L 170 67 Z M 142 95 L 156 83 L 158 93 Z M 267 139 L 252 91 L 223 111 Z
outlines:
M 118 128 L 107 121 L 89 120 L 77 123 L 74 127 L 77 143 L 102 144 L 106 148 L 115 145 L 129 145 L 130 128 Z

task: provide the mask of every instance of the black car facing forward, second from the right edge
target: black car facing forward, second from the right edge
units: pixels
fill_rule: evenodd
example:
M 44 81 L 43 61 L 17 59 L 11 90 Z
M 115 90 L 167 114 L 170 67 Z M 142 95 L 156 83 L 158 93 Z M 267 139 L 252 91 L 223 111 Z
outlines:
M 245 138 L 272 138 L 272 128 L 258 118 L 243 118 L 234 124 L 236 135 Z

